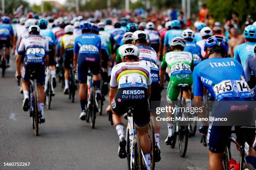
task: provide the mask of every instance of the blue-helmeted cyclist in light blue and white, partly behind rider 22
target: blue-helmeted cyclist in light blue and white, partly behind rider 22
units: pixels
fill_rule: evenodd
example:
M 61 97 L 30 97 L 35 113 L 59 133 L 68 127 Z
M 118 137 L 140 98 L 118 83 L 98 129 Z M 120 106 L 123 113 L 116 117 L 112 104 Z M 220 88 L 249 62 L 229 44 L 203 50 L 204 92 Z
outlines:
M 54 96 L 54 88 L 56 87 L 56 69 L 55 69 L 55 51 L 56 51 L 56 47 L 55 47 L 55 36 L 54 33 L 47 28 L 48 22 L 46 19 L 40 19 L 38 20 L 37 25 L 40 28 L 40 35 L 43 35 L 44 37 L 46 37 L 46 39 L 49 41 L 48 45 L 49 45 L 49 69 L 51 72 L 51 90 L 52 90 L 52 95 Z M 45 79 L 45 87 L 44 87 L 44 91 L 46 92 L 47 90 L 47 85 L 48 85 L 48 79 Z

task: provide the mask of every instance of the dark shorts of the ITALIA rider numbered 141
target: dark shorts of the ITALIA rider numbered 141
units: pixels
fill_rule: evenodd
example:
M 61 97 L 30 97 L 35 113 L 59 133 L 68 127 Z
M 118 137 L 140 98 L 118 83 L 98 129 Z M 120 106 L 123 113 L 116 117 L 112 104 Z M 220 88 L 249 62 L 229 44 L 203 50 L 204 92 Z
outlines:
M 78 82 L 86 83 L 88 69 L 90 68 L 93 75 L 100 73 L 100 56 L 97 57 L 84 57 L 79 56 L 77 61 L 77 74 Z

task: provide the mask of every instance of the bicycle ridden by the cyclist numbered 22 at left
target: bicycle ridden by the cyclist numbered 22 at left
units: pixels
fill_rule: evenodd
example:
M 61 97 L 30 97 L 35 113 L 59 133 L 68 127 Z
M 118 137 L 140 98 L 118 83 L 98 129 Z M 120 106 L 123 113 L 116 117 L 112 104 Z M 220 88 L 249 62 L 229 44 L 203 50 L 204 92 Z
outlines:
M 41 124 L 41 113 L 38 111 L 38 100 L 35 90 L 35 82 L 34 79 L 36 77 L 36 69 L 28 70 L 30 74 L 30 81 L 29 81 L 29 115 L 32 117 L 32 128 L 34 129 L 34 133 L 38 136 L 39 125 Z M 20 77 L 18 77 L 18 86 L 20 86 Z

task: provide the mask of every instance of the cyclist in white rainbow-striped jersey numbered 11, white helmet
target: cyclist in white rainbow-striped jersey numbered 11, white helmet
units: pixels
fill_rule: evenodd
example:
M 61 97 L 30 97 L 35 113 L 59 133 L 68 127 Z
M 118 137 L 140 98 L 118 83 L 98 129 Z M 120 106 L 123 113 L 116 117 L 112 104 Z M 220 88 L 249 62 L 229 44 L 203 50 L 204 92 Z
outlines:
M 109 102 L 106 112 L 113 110 L 113 122 L 119 137 L 118 156 L 126 158 L 126 140 L 124 136 L 123 114 L 128 107 L 136 107 L 133 120 L 141 141 L 141 148 L 146 158 L 147 170 L 150 170 L 150 140 L 148 125 L 151 96 L 150 69 L 143 62 L 138 62 L 138 47 L 125 45 L 122 50 L 123 62 L 115 65 L 111 71 Z

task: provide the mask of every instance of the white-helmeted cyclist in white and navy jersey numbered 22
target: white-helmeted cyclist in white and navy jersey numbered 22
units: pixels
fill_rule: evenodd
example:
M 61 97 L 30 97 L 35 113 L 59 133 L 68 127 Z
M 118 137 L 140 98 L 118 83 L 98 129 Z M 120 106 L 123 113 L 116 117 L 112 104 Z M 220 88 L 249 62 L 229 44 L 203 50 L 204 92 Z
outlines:
M 45 67 L 49 62 L 49 45 L 46 37 L 40 35 L 40 28 L 37 25 L 31 25 L 28 28 L 29 35 L 24 37 L 18 49 L 18 55 L 16 57 L 16 71 L 15 77 L 19 79 L 22 76 L 23 87 L 23 110 L 28 111 L 28 90 L 29 90 L 29 73 L 28 70 L 36 69 L 36 84 L 38 91 L 38 102 L 41 112 L 41 123 L 45 122 L 44 115 L 44 79 L 45 79 Z M 20 72 L 20 59 L 25 53 L 24 68 L 21 74 Z M 37 60 L 35 60 L 37 58 Z

